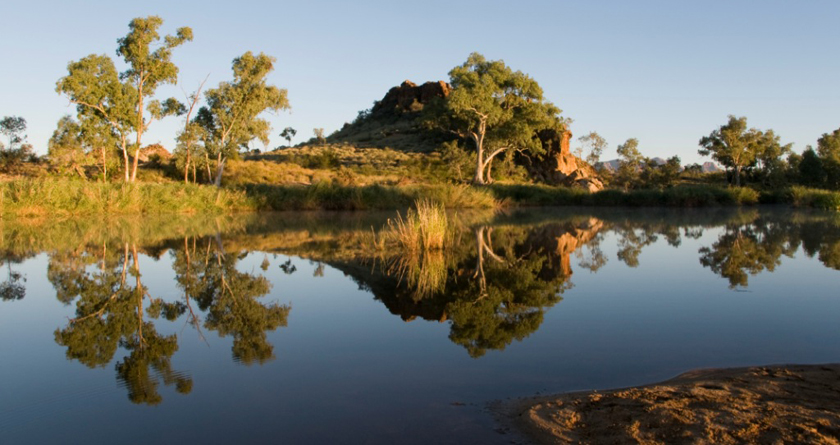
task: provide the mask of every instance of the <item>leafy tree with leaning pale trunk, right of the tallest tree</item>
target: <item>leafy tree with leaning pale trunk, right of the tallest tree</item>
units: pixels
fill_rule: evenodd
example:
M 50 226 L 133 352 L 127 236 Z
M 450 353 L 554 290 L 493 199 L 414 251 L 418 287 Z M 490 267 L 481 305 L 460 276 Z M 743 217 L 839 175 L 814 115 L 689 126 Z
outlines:
M 265 111 L 289 109 L 285 89 L 269 85 L 274 57 L 248 51 L 233 59 L 233 81 L 207 90 L 207 105 L 198 110 L 196 121 L 206 131 L 205 148 L 216 158 L 215 184 L 221 186 L 225 162 L 239 147 L 258 138 L 268 144 L 271 125 L 259 116 Z

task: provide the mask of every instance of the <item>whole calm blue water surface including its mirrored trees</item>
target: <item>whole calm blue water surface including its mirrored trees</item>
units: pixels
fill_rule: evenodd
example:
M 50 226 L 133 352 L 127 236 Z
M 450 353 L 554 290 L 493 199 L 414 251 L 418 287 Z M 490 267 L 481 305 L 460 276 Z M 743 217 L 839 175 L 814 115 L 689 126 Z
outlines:
M 0 221 L 0 443 L 511 443 L 485 403 L 840 361 L 840 217 Z

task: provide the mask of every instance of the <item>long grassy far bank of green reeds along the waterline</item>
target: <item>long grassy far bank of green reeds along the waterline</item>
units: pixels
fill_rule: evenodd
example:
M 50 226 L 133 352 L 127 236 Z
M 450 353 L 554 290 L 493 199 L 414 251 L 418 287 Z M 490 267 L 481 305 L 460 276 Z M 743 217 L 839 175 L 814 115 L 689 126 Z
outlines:
M 298 210 L 396 210 L 425 199 L 455 209 L 504 207 L 710 207 L 788 204 L 840 208 L 840 193 L 793 187 L 758 192 L 741 187 L 682 185 L 662 190 L 580 189 L 537 184 L 351 186 L 252 184 L 216 188 L 174 182 L 13 179 L 0 182 L 4 215 L 231 213 Z

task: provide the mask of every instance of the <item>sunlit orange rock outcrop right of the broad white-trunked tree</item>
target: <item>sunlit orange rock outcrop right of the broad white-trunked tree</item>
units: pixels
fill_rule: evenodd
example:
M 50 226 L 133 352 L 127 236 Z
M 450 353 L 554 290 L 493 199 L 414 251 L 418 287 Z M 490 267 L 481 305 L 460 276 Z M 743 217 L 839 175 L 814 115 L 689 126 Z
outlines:
M 545 153 L 525 162 L 525 168 L 537 180 L 547 184 L 580 187 L 590 192 L 603 190 L 595 170 L 578 159 L 569 149 L 571 131 L 542 130 L 537 133 Z

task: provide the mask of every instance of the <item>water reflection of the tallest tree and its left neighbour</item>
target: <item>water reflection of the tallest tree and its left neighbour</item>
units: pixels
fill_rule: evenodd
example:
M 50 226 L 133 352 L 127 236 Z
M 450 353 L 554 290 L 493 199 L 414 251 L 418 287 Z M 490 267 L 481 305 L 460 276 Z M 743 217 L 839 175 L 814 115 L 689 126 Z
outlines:
M 56 343 L 67 348 L 67 358 L 91 368 L 105 366 L 119 346 L 129 351 L 116 365 L 117 379 L 127 388 L 129 400 L 148 405 L 160 403 L 159 380 L 165 385 L 174 384 L 180 393 L 189 393 L 192 379 L 172 371 L 170 365 L 178 350 L 176 336 L 159 334 L 154 324 L 144 318 L 157 318 L 163 312 L 174 314 L 180 309 L 148 294 L 141 281 L 137 247 L 132 245 L 129 251 L 126 243 L 121 253 L 112 255 L 105 250 L 100 268 L 94 273 L 72 266 L 85 263 L 71 261 L 70 266 L 51 264 L 55 267 L 50 268 L 59 300 L 69 302 L 78 297 L 76 318 L 55 332 Z M 144 314 L 147 298 L 152 300 L 154 309 Z

